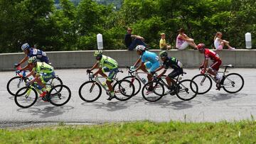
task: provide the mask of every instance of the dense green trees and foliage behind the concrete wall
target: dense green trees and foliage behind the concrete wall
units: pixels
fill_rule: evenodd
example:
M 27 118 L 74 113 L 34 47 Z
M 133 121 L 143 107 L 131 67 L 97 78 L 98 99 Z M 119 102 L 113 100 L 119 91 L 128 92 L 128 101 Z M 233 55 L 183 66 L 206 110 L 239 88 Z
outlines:
M 151 48 L 159 47 L 161 32 L 175 45 L 178 28 L 209 47 L 217 31 L 236 48 L 245 48 L 247 32 L 256 43 L 255 0 L 78 1 L 55 1 L 56 9 L 53 0 L 1 0 L 0 52 L 21 51 L 23 43 L 43 50 L 95 50 L 97 33 L 102 33 L 105 49 L 126 49 L 128 26 Z

